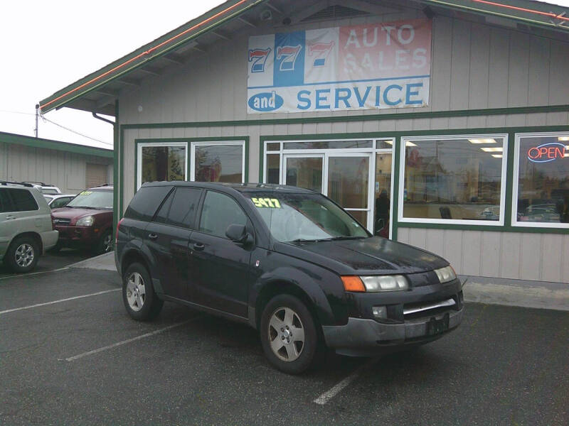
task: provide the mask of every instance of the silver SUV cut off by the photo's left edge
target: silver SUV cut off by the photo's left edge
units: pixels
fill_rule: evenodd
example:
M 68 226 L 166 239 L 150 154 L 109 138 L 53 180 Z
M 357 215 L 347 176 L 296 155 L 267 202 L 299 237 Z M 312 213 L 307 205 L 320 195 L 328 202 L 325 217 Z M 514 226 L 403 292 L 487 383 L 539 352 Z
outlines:
M 11 271 L 25 273 L 58 241 L 51 210 L 32 185 L 0 182 L 0 259 Z

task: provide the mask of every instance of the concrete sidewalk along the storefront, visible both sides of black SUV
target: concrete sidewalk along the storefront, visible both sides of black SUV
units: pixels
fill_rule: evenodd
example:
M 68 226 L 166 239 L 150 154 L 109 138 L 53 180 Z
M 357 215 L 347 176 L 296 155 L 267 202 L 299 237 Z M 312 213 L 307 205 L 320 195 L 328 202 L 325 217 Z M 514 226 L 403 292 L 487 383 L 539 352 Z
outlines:
M 117 271 L 115 253 L 105 253 L 74 263 L 70 268 Z M 507 280 L 459 275 L 464 282 L 464 301 L 488 305 L 508 305 L 569 311 L 569 284 Z

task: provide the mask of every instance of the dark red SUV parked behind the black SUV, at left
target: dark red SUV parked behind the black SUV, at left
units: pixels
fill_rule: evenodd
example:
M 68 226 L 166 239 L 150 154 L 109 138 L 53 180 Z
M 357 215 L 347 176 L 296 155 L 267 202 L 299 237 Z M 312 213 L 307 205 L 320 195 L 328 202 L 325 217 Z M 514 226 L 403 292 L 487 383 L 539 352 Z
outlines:
M 59 241 L 55 249 L 112 250 L 112 185 L 80 192 L 65 207 L 53 209 Z

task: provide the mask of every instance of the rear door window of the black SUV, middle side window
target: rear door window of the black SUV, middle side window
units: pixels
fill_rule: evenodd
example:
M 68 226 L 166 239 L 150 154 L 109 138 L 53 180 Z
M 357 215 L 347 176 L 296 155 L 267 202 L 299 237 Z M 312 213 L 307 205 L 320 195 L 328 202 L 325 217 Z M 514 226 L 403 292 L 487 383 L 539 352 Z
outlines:
M 192 229 L 200 196 L 201 190 L 198 188 L 176 188 L 164 202 L 154 221 Z

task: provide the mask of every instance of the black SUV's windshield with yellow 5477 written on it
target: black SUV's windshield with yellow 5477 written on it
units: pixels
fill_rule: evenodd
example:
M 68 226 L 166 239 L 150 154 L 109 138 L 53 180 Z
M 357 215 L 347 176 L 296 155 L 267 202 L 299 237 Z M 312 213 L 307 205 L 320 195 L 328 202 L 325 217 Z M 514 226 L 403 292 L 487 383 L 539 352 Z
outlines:
M 247 194 L 274 239 L 282 242 L 361 239 L 370 236 L 343 209 L 319 194 Z

